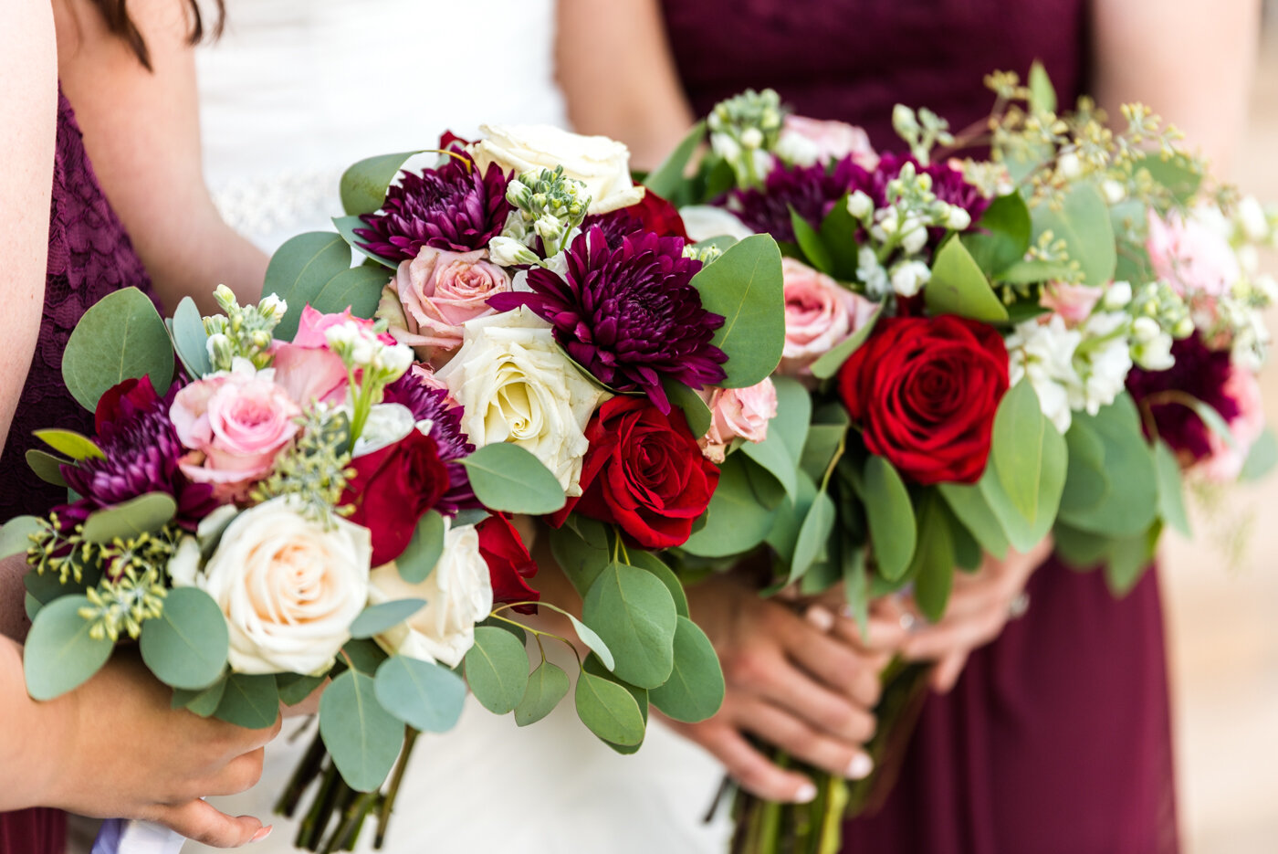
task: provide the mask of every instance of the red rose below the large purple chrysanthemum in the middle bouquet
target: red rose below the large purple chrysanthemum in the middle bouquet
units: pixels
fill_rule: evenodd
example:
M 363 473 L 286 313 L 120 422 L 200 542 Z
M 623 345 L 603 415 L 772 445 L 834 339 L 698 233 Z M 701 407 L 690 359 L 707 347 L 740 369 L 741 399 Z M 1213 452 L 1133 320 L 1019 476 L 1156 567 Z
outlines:
M 702 455 L 684 413 L 663 415 L 647 398 L 612 398 L 585 428 L 590 449 L 581 462 L 580 499 L 569 511 L 610 522 L 644 548 L 681 546 L 705 511 L 718 467 Z

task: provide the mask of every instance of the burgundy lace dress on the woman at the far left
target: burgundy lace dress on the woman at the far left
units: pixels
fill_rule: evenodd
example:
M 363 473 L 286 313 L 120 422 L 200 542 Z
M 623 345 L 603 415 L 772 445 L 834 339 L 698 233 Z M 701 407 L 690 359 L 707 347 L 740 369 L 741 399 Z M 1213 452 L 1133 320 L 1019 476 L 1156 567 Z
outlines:
M 93 175 L 72 107 L 59 93 L 45 313 L 0 456 L 0 522 L 47 513 L 65 500 L 65 490 L 45 483 L 27 468 L 27 449 L 37 445 L 31 433 L 54 426 L 92 431 L 93 415 L 63 385 L 63 349 L 86 308 L 129 285 L 151 293 L 146 268 Z M 65 836 L 65 821 L 56 811 L 0 813 L 0 854 L 61 854 Z

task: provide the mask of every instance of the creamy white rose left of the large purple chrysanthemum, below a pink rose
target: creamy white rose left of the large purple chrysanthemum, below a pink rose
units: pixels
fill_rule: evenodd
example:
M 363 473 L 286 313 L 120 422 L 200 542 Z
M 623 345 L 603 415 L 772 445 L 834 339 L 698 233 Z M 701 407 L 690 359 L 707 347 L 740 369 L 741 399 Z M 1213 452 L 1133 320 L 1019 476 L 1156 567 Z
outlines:
M 581 495 L 585 424 L 607 392 L 587 380 L 527 308 L 466 322 L 461 349 L 435 375 L 465 414 L 477 446 L 512 442 Z

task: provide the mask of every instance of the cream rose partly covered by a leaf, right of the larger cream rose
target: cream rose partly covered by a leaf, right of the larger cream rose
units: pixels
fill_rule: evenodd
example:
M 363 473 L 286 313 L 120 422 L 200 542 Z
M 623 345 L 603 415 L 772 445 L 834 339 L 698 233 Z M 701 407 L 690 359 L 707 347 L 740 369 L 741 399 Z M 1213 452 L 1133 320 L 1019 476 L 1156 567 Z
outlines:
M 475 623 L 492 610 L 492 582 L 474 525 L 445 532 L 440 563 L 420 584 L 400 578 L 394 563 L 373 570 L 369 586 L 373 605 L 408 598 L 426 600 L 426 605 L 377 635 L 377 643 L 391 655 L 438 661 L 450 667 L 461 664 L 474 643 Z

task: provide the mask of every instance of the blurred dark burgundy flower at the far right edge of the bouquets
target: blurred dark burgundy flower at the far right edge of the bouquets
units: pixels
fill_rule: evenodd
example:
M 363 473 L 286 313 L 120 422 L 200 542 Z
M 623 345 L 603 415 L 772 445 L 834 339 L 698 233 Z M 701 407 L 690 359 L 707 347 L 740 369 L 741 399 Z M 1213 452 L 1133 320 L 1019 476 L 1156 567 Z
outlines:
M 1238 417 L 1238 401 L 1226 394 L 1229 352 L 1210 350 L 1197 335 L 1191 335 L 1172 344 L 1172 355 L 1176 364 L 1167 371 L 1132 368 L 1127 375 L 1127 390 L 1141 408 L 1149 407 L 1158 435 L 1172 450 L 1194 460 L 1205 459 L 1212 455 L 1210 428 L 1185 403 L 1158 400 L 1167 392 L 1189 395 L 1220 413 L 1226 423 L 1232 422 Z

